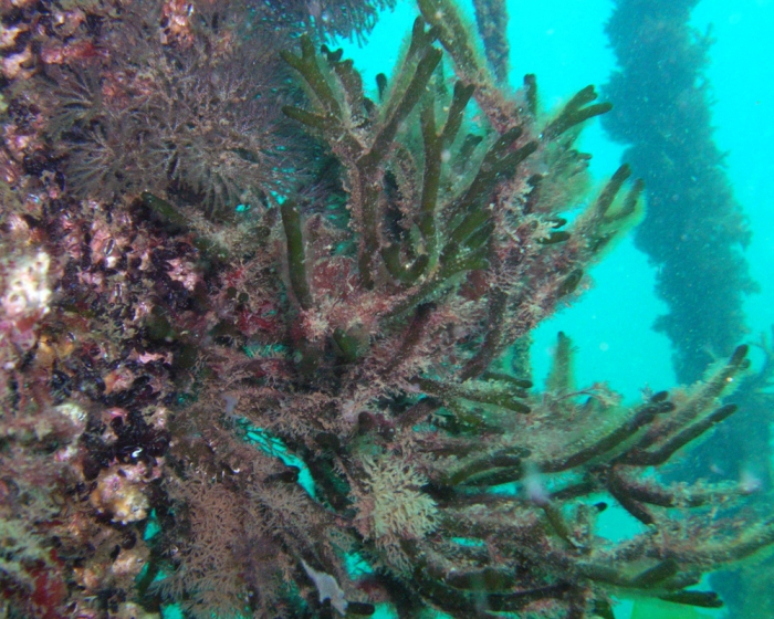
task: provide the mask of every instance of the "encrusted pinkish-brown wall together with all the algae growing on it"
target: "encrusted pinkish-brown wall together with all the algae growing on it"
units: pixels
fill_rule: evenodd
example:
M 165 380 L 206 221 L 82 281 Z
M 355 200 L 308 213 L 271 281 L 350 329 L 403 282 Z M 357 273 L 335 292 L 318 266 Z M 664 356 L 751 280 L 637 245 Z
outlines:
M 576 148 L 610 106 L 495 86 L 446 0 L 372 96 L 324 36 L 383 4 L 0 4 L 9 616 L 614 617 L 719 606 L 702 573 L 774 542 L 750 487 L 653 474 L 746 346 L 632 405 L 564 334 L 525 376 L 641 214 Z M 610 504 L 642 533 L 600 538 Z

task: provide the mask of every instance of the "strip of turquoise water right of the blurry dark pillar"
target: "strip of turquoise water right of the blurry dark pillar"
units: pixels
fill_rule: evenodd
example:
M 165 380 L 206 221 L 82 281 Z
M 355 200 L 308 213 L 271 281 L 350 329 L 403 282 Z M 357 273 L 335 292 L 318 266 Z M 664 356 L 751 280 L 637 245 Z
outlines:
M 774 322 L 774 2 L 702 0 L 693 21 L 702 29 L 711 23 L 717 39 L 707 71 L 715 141 L 729 154 L 729 176 L 753 230 L 747 261 L 762 292 L 747 300 L 745 312 L 757 333 Z

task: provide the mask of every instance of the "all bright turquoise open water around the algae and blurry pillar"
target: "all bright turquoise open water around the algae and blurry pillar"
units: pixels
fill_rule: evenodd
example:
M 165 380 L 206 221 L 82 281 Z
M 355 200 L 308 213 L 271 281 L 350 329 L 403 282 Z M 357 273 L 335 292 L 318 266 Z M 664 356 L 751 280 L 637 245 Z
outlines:
M 611 0 L 510 0 L 511 84 L 535 73 L 542 105 L 553 108 L 587 84 L 606 83 L 615 66 L 604 32 L 613 8 Z M 412 3 L 399 0 L 365 46 L 341 42 L 366 85 L 375 84 L 379 72 L 391 73 L 414 17 Z M 701 33 L 711 24 L 715 39 L 705 76 L 713 97 L 715 141 L 728 151 L 729 179 L 753 232 L 746 258 L 761 292 L 747 297 L 745 312 L 750 338 L 756 339 L 762 332 L 771 333 L 774 324 L 774 0 L 700 0 L 692 21 Z M 584 132 L 582 147 L 594 155 L 592 171 L 598 180 L 615 171 L 624 150 L 606 138 L 598 123 Z M 536 332 L 532 350 L 536 381 L 547 371 L 556 332 L 564 331 L 578 348 L 578 386 L 606 380 L 629 400 L 646 386 L 655 390 L 673 386 L 669 340 L 651 328 L 667 307 L 653 294 L 656 273 L 646 255 L 627 239 L 592 276 L 592 290 Z M 637 531 L 638 523 L 627 514 L 608 512 L 602 534 L 619 537 Z M 629 619 L 631 606 L 621 600 L 616 617 Z M 380 610 L 380 617 L 389 616 L 387 609 Z M 722 610 L 700 616 L 726 617 Z

